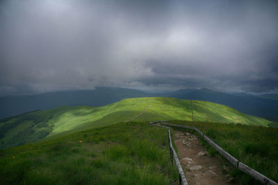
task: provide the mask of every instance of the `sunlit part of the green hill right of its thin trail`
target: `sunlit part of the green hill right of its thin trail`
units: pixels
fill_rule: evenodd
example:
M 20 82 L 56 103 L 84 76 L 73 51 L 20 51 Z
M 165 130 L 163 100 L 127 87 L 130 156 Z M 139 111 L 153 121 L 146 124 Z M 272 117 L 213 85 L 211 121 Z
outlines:
M 190 100 L 150 98 L 151 107 L 135 121 L 185 120 L 192 121 Z M 238 112 L 236 109 L 206 101 L 193 100 L 195 121 L 242 123 L 268 126 L 270 121 Z

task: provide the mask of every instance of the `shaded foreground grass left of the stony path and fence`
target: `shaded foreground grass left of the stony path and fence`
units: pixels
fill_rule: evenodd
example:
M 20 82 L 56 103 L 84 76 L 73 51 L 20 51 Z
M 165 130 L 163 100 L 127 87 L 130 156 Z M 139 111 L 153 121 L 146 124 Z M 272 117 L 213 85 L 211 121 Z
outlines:
M 79 143 L 82 141 L 82 143 Z M 0 150 L 0 184 L 178 184 L 167 131 L 119 123 Z

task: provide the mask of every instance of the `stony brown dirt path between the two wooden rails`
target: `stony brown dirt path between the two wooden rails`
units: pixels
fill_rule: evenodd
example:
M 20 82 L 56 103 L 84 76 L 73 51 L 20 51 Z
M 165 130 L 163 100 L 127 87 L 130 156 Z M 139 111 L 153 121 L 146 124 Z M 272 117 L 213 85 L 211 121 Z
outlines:
M 210 157 L 195 134 L 174 131 L 174 143 L 178 148 L 179 161 L 189 185 L 235 184 L 223 170 L 231 167 L 220 165 L 217 157 Z

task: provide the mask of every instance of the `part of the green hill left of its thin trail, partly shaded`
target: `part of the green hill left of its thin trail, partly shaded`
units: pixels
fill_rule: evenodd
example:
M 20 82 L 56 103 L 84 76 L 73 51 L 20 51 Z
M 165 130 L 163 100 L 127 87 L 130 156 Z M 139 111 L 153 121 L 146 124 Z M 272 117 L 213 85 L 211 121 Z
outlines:
M 148 105 L 147 99 L 125 99 L 103 107 L 62 106 L 28 112 L 0 121 L 0 148 L 126 121 Z

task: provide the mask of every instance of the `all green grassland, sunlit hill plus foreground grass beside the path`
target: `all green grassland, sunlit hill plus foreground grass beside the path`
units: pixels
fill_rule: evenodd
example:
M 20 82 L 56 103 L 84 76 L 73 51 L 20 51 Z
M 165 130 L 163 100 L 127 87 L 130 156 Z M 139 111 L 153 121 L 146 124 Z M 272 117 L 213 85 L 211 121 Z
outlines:
M 278 131 L 268 127 L 270 121 L 197 100 L 193 114 L 194 123 L 190 100 L 160 97 L 4 118 L 0 144 L 8 149 L 0 150 L 0 175 L 6 177 L 0 184 L 179 184 L 166 130 L 148 124 L 159 120 L 198 127 L 231 155 L 277 181 Z M 238 171 L 232 175 L 252 183 Z

